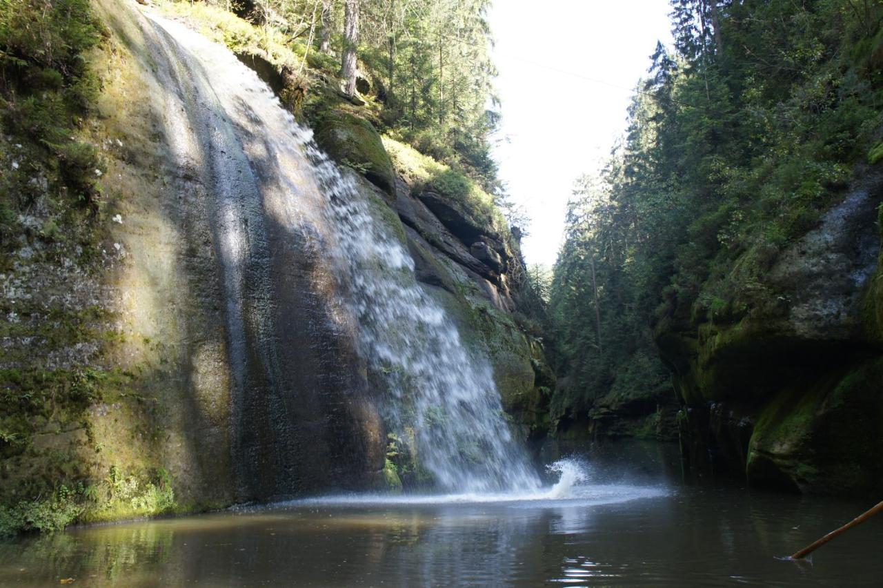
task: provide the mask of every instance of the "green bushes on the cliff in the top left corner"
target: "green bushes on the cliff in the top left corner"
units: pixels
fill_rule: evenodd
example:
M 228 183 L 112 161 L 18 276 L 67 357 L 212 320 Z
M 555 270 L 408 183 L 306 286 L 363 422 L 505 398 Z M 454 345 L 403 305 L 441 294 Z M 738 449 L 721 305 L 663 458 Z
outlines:
M 0 0 L 0 120 L 11 138 L 0 149 L 0 245 L 19 233 L 19 210 L 43 199 L 56 226 L 94 209 L 103 165 L 97 149 L 76 139 L 98 83 L 86 55 L 102 39 L 88 0 Z M 55 198 L 45 200 L 49 194 Z M 45 206 L 48 205 L 48 206 Z M 47 229 L 51 229 L 47 225 Z M 47 230 L 47 239 L 76 237 Z

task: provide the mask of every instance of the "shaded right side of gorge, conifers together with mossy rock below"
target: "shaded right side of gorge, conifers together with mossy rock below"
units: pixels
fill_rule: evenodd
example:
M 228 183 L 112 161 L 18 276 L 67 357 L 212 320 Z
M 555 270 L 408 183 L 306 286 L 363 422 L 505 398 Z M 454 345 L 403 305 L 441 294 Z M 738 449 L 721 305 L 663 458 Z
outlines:
M 567 428 L 618 411 L 640 417 L 638 433 L 670 438 L 674 412 L 665 407 L 686 403 L 682 441 L 700 438 L 700 453 L 728 464 L 719 469 L 744 471 L 746 452 L 769 449 L 756 447 L 758 429 L 784 418 L 758 416 L 769 403 L 801 402 L 811 388 L 803 374 L 833 378 L 806 401 L 804 421 L 813 421 L 849 362 L 879 353 L 868 289 L 883 159 L 883 4 L 674 0 L 671 17 L 674 52 L 653 53 L 622 144 L 570 202 L 551 288 L 566 375 L 553 417 Z M 844 332 L 834 334 L 835 324 Z M 856 395 L 872 411 L 879 383 Z M 801 389 L 781 398 L 789 387 Z M 709 425 L 709 410 L 725 416 Z M 706 416 L 691 424 L 696 411 Z M 668 425 L 656 422 L 667 415 Z M 829 433 L 807 423 L 783 425 L 799 433 L 776 440 L 793 462 L 815 459 L 801 443 Z M 879 421 L 856 425 L 872 438 Z M 769 469 L 784 473 L 758 479 L 818 481 L 780 457 Z M 872 483 L 853 478 L 842 485 Z

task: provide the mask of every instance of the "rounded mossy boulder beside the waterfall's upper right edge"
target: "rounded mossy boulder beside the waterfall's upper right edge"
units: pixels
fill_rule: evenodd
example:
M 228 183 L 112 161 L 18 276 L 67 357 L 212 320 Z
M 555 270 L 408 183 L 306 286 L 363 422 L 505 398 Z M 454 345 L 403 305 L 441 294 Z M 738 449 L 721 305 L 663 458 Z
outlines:
M 396 176 L 381 136 L 365 118 L 341 109 L 321 114 L 316 142 L 336 162 L 364 175 L 383 192 L 395 197 Z

